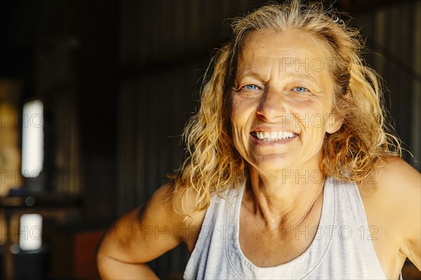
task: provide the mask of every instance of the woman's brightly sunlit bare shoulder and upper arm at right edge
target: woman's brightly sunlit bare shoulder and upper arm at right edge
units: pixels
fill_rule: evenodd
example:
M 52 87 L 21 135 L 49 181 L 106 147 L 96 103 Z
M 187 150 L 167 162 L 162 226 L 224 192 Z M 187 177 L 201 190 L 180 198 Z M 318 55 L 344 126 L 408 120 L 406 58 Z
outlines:
M 359 183 L 368 219 L 393 237 L 399 252 L 421 269 L 421 175 L 401 158 L 379 160 Z

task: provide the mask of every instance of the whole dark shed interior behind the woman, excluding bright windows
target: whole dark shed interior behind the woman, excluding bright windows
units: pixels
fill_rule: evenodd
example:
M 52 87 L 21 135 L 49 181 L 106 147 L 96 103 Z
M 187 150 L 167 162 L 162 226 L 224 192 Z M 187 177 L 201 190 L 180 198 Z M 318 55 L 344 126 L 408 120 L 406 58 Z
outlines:
M 41 178 L 15 179 L 12 192 L 19 190 L 21 200 L 0 197 L 0 278 L 98 276 L 93 250 L 102 232 L 144 204 L 180 166 L 180 132 L 195 109 L 212 50 L 228 38 L 226 19 L 262 3 L 0 3 L 0 105 L 17 112 L 19 147 L 19 114 L 28 100 L 44 102 L 45 132 Z M 366 36 L 366 59 L 385 78 L 396 132 L 420 160 L 420 1 L 342 0 L 333 6 L 348 12 Z M 7 138 L 3 124 L 1 129 Z M 420 170 L 409 153 L 405 158 Z M 7 168 L 2 160 L 1 176 Z M 25 206 L 28 195 L 34 207 Z M 41 251 L 9 250 L 23 213 L 43 215 Z M 187 259 L 185 248 L 178 248 L 152 267 L 177 279 Z

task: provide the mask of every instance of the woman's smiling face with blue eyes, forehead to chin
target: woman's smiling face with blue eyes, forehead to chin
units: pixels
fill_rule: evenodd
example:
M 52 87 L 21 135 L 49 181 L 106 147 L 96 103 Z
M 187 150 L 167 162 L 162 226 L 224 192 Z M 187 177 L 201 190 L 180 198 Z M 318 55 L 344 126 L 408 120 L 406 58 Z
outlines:
M 298 31 L 254 31 L 243 41 L 232 88 L 232 134 L 260 172 L 318 169 L 323 137 L 340 128 L 333 111 L 332 59 Z

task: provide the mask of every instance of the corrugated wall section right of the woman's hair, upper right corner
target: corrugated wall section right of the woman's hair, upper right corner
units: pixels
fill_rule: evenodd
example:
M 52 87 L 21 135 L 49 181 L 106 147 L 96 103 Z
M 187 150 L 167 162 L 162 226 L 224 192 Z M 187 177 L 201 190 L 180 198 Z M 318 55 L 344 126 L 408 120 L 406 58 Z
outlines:
M 375 68 L 389 92 L 387 109 L 394 118 L 396 132 L 421 160 L 421 1 L 396 2 L 393 6 L 355 17 L 367 36 L 367 62 Z M 419 162 L 406 159 L 421 171 Z

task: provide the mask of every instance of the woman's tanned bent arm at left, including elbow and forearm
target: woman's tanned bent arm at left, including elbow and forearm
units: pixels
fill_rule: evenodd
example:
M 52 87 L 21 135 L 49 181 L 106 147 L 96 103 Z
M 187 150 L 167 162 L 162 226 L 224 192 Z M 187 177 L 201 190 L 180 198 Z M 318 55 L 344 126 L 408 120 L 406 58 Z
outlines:
M 171 186 L 163 186 L 145 209 L 129 212 L 109 229 L 97 255 L 103 279 L 157 279 L 146 262 L 191 241 L 185 215 L 174 211 L 171 191 Z

